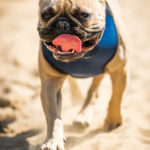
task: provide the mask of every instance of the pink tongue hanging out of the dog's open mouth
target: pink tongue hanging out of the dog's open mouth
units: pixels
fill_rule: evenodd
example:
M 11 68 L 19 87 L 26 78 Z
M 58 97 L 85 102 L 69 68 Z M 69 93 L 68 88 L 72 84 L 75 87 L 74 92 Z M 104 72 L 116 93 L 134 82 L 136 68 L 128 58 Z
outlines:
M 68 52 L 70 49 L 75 50 L 76 52 L 81 52 L 81 40 L 75 36 L 70 34 L 62 34 L 56 37 L 52 43 L 55 46 L 61 46 L 62 51 Z

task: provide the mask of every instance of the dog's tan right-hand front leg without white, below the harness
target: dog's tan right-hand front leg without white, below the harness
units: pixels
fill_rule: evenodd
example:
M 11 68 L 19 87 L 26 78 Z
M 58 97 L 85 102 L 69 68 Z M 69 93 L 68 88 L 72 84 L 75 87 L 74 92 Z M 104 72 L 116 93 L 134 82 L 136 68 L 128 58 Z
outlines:
M 109 72 L 112 81 L 112 96 L 108 106 L 107 117 L 105 119 L 105 129 L 112 130 L 122 123 L 121 101 L 126 87 L 126 70 L 120 68 Z

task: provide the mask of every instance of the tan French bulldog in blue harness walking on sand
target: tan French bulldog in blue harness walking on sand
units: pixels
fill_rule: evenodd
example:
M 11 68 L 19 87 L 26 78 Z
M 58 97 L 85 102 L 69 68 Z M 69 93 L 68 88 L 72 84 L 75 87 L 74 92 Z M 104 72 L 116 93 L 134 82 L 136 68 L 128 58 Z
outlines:
M 122 123 L 121 100 L 126 87 L 126 43 L 114 0 L 40 0 L 39 73 L 47 137 L 41 150 L 64 150 L 61 88 L 68 76 L 93 77 L 74 123 L 90 125 L 92 98 L 105 74 L 112 96 L 104 128 Z

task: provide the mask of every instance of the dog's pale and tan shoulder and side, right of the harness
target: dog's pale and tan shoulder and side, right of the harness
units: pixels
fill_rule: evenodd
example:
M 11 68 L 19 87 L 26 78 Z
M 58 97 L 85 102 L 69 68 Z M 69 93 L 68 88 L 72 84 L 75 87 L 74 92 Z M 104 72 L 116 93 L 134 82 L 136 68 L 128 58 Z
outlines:
M 125 32 L 124 23 L 120 15 L 120 10 L 117 1 L 107 0 L 107 4 L 111 9 L 112 16 L 114 18 L 114 22 L 118 32 L 118 38 L 119 38 L 118 39 L 119 45 L 118 45 L 117 52 L 113 57 L 113 59 L 106 66 L 106 70 L 112 72 L 126 65 L 129 48 L 128 48 L 127 35 Z

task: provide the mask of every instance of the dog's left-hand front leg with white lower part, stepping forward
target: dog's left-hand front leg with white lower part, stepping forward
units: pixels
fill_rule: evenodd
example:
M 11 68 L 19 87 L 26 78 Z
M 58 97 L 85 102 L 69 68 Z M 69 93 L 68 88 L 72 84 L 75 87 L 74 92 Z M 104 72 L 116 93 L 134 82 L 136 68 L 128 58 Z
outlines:
M 61 120 L 61 85 L 64 78 L 42 80 L 41 100 L 47 122 L 47 137 L 41 150 L 63 150 L 64 136 Z

